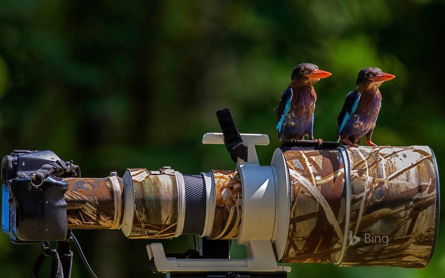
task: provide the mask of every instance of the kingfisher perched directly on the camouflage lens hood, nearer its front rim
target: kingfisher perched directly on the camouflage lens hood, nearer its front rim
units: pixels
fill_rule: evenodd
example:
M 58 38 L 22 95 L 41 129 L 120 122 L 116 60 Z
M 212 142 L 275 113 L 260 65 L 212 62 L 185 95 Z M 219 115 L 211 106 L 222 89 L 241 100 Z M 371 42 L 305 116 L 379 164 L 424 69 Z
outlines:
M 382 95 L 380 85 L 395 75 L 384 73 L 379 68 L 364 68 L 359 71 L 355 90 L 349 92 L 337 118 L 337 141 L 358 147 L 363 136 L 368 146 L 379 115 Z

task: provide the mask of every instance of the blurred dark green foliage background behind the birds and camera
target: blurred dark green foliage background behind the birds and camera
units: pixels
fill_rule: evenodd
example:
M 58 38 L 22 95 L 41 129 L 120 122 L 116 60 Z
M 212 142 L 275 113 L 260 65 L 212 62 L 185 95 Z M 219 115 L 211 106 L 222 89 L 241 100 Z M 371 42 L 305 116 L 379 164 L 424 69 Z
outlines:
M 316 137 L 335 140 L 358 70 L 377 66 L 397 77 L 381 87 L 373 141 L 431 146 L 445 176 L 444 14 L 443 1 L 428 0 L 2 1 L 0 154 L 53 150 L 91 177 L 163 165 L 233 169 L 224 146 L 201 144 L 228 106 L 241 132 L 270 135 L 257 148 L 269 164 L 279 146 L 273 109 L 292 68 L 313 62 L 332 73 L 315 86 Z M 76 234 L 99 277 L 153 275 L 149 241 L 118 230 Z M 444 237 L 439 230 L 424 270 L 294 264 L 289 277 L 445 276 Z M 193 246 L 191 236 L 163 243 L 170 252 Z M 39 252 L 1 234 L 1 275 L 30 277 Z M 74 256 L 72 277 L 87 276 Z

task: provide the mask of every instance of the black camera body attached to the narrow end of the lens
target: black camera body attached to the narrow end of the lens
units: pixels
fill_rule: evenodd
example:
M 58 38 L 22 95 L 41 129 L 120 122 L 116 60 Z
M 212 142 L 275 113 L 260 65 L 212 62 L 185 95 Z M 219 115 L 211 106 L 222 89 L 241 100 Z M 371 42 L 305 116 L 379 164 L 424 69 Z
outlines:
M 52 151 L 14 151 L 3 158 L 2 230 L 13 243 L 66 238 L 68 184 L 55 175 L 35 176 L 43 165 L 56 161 L 60 158 Z

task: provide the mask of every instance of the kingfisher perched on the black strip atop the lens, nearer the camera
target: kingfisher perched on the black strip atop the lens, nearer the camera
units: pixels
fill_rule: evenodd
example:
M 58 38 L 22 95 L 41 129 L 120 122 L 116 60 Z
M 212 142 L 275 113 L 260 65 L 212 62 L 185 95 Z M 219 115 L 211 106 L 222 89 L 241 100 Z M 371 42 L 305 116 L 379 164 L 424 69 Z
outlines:
M 302 63 L 292 70 L 288 88 L 281 95 L 277 114 L 277 132 L 280 141 L 302 140 L 307 134 L 314 140 L 314 110 L 317 94 L 314 83 L 331 73 L 317 65 Z M 321 145 L 321 139 L 317 140 Z

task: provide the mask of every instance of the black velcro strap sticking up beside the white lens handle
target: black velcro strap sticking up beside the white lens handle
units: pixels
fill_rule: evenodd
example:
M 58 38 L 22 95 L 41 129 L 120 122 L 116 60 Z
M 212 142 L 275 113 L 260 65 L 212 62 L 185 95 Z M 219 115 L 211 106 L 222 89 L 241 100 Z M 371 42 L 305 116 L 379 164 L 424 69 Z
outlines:
M 237 162 L 237 158 L 240 158 L 244 162 L 247 162 L 247 146 L 243 143 L 243 139 L 235 126 L 229 108 L 226 107 L 216 111 L 216 117 L 218 118 L 219 126 L 222 129 L 224 144 L 226 145 L 226 149 L 230 153 L 232 160 Z

